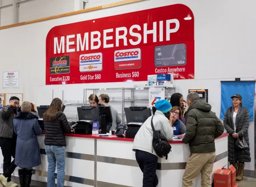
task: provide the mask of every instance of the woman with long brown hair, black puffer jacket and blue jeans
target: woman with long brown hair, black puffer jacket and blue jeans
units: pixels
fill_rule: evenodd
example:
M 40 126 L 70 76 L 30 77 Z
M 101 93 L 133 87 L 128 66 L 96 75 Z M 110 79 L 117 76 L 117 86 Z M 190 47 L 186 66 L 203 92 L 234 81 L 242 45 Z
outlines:
M 70 133 L 70 125 L 62 113 L 62 101 L 59 98 L 52 100 L 48 110 L 44 113 L 45 152 L 48 159 L 47 187 L 55 186 L 55 167 L 57 162 L 57 187 L 64 186 L 65 178 L 65 147 L 64 133 Z

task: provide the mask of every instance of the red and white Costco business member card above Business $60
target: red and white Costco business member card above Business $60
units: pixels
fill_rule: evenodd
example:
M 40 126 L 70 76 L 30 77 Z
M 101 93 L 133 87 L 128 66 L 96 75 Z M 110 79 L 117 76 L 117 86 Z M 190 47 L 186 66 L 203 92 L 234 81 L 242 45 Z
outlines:
M 141 50 L 127 49 L 118 50 L 114 53 L 114 68 L 118 69 L 134 69 L 141 66 Z

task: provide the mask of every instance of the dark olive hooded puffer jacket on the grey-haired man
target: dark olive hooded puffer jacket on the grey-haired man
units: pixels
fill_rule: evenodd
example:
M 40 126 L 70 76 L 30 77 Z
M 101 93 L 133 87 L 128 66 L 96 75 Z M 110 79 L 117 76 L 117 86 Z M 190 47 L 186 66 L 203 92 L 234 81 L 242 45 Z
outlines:
M 198 99 L 188 107 L 186 134 L 183 143 L 189 143 L 190 153 L 215 152 L 214 139 L 222 135 L 224 127 L 211 111 L 212 106 Z

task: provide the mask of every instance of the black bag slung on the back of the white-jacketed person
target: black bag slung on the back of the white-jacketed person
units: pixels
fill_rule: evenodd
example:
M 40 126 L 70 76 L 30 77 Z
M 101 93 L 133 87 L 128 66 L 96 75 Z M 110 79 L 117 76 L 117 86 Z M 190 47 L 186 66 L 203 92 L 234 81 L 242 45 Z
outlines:
M 152 153 L 153 153 L 153 148 L 156 151 L 156 154 L 163 158 L 165 157 L 165 159 L 167 160 L 168 158 L 168 153 L 170 153 L 170 151 L 172 151 L 172 146 L 168 143 L 168 140 L 166 139 L 166 137 L 164 137 L 164 135 L 161 134 L 160 131 L 156 131 L 153 125 L 153 117 L 151 118 L 151 127 L 152 127 L 152 131 L 153 131 L 153 141 L 152 141 Z

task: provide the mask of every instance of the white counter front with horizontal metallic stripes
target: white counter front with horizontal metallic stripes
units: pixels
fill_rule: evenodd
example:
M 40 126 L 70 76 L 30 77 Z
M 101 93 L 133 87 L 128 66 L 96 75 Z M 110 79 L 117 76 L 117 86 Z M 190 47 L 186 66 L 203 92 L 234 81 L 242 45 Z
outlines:
M 42 164 L 34 167 L 33 180 L 47 181 L 47 156 L 44 135 L 38 137 L 41 148 Z M 141 187 L 142 172 L 132 151 L 132 141 L 114 139 L 66 137 L 65 186 L 70 187 Z M 174 142 L 174 143 L 173 143 Z M 158 187 L 182 187 L 182 176 L 190 151 L 188 145 L 172 141 L 172 152 L 168 160 L 158 159 Z M 228 137 L 215 140 L 216 169 L 228 164 Z M 0 154 L 2 166 L 3 156 Z M 0 169 L 2 172 L 2 167 Z M 57 173 L 57 168 L 55 173 Z M 14 171 L 18 176 L 18 169 Z M 55 176 L 56 177 L 56 176 Z M 213 177 L 213 176 L 212 176 Z M 200 187 L 200 176 L 194 181 L 194 187 Z

